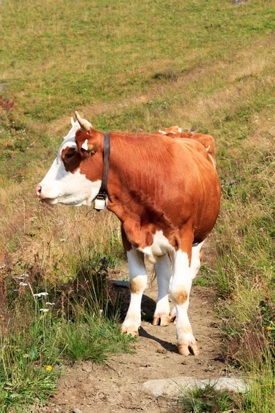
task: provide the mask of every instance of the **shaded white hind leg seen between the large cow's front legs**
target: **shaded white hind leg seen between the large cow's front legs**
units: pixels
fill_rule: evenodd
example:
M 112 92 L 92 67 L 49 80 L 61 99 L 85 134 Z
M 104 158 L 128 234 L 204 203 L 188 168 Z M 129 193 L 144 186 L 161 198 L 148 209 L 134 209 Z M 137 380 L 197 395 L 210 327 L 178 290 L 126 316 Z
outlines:
M 170 306 L 168 300 L 168 288 L 171 277 L 171 260 L 168 254 L 164 255 L 157 264 L 155 264 L 155 273 L 157 275 L 157 305 L 153 316 L 153 326 L 168 326 L 170 323 Z

